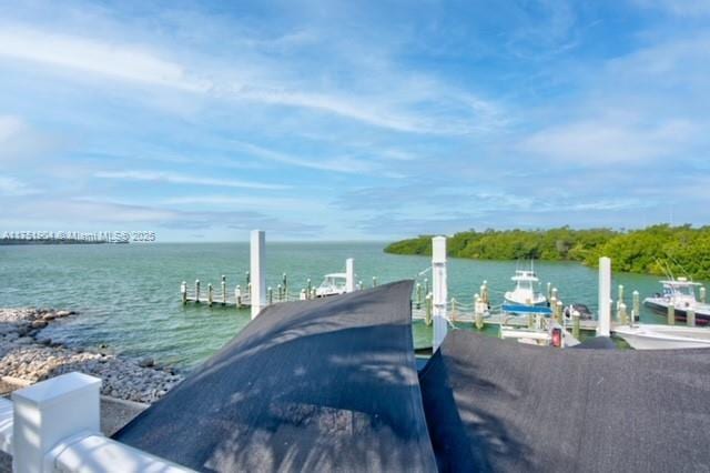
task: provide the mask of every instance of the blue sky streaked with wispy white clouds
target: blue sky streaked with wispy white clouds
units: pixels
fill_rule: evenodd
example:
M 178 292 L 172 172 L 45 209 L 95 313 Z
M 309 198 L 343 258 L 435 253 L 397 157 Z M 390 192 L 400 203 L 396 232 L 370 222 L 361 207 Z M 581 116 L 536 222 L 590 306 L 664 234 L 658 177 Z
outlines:
M 710 217 L 710 1 L 0 0 L 0 230 Z

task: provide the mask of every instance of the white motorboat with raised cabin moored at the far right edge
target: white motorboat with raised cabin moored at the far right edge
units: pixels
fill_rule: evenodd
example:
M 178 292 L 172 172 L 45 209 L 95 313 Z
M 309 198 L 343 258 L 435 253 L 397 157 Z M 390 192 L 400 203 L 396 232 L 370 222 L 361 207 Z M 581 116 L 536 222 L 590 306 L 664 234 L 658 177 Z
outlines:
M 663 292 L 643 300 L 643 305 L 649 309 L 667 314 L 668 308 L 672 304 L 676 311 L 676 319 L 684 321 L 688 310 L 693 310 L 698 324 L 710 322 L 710 304 L 699 302 L 696 299 L 696 288 L 701 285 L 697 282 L 688 281 L 686 278 L 660 281 Z

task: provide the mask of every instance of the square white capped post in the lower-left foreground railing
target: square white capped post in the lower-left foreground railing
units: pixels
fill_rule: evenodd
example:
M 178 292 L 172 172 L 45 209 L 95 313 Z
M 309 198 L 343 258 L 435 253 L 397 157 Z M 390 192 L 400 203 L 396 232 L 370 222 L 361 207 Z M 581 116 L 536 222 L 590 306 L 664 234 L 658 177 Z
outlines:
M 73 372 L 13 392 L 12 470 L 41 473 L 58 442 L 100 433 L 100 379 Z

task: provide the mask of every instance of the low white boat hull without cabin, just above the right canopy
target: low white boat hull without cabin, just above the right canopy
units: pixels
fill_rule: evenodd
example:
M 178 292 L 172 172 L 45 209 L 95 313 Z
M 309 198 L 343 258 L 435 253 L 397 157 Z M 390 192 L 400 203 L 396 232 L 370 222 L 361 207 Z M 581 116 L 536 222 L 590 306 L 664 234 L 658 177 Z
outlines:
M 617 325 L 613 334 L 635 350 L 676 350 L 710 348 L 710 330 L 696 326 L 642 324 Z

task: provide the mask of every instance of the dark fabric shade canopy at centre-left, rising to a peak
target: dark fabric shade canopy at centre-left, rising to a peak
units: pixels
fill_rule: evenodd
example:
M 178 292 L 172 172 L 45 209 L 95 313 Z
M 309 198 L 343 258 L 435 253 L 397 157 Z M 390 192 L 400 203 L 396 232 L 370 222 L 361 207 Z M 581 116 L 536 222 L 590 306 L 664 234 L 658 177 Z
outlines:
M 435 471 L 410 294 L 268 306 L 114 439 L 197 471 Z

